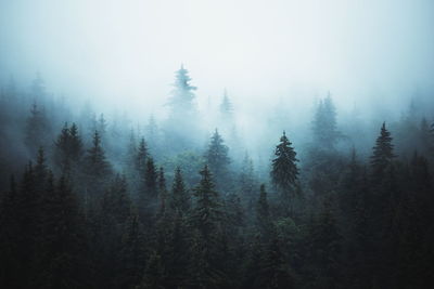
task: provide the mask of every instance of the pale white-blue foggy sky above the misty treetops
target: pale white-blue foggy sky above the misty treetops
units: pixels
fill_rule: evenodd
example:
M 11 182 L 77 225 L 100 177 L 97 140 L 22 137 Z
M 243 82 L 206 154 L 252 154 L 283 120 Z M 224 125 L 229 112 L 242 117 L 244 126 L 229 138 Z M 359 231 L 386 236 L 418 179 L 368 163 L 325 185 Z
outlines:
M 432 0 L 0 0 L 0 83 L 159 114 L 183 64 L 202 107 L 349 109 L 434 91 L 433 27 Z

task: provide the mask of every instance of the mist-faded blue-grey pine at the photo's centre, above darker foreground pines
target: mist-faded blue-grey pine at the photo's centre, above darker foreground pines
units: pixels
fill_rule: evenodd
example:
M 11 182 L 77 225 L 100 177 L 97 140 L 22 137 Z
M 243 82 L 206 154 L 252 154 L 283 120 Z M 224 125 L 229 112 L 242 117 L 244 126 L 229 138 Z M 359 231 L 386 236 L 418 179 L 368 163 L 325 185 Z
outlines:
M 229 180 L 229 165 L 230 159 L 228 156 L 229 148 L 225 145 L 224 140 L 218 133 L 217 129 L 210 137 L 208 149 L 205 154 L 206 163 L 209 170 L 216 178 L 218 188 L 228 188 Z

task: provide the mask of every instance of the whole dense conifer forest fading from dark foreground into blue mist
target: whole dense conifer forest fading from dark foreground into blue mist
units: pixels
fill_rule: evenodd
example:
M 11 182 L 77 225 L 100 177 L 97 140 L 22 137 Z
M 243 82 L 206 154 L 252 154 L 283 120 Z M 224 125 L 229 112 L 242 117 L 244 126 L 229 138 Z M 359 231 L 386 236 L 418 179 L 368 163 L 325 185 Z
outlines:
M 255 146 L 228 93 L 201 114 L 184 67 L 146 123 L 75 111 L 40 75 L 0 96 L 1 288 L 434 285 L 434 107 L 417 97 L 373 126 L 339 122 L 331 94 L 301 129 L 281 107 Z

